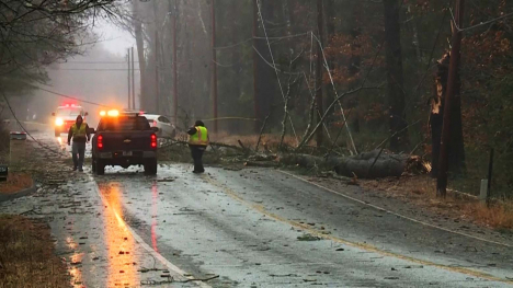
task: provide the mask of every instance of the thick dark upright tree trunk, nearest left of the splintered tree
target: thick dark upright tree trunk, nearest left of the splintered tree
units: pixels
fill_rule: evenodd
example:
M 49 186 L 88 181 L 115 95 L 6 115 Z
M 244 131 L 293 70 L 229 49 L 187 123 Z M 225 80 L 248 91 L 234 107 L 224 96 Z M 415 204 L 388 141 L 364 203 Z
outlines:
M 400 1 L 384 0 L 386 67 L 388 82 L 389 127 L 394 135 L 408 126 L 404 111 L 404 90 L 401 53 Z M 402 151 L 408 146 L 408 130 L 390 139 L 390 150 Z

